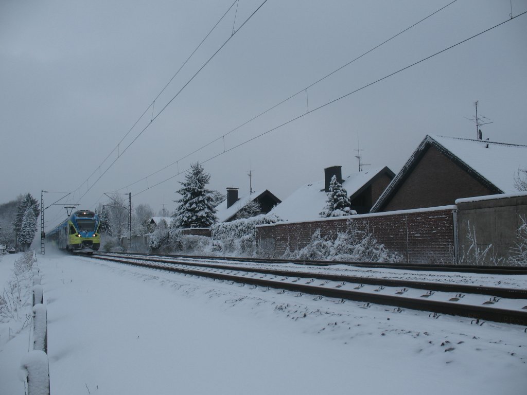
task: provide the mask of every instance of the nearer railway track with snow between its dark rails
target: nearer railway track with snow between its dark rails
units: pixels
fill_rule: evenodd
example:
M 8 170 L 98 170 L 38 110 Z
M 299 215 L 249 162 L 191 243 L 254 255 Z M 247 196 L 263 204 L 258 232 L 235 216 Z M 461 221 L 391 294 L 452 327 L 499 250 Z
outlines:
M 96 254 L 92 258 L 204 276 L 241 286 L 264 287 L 264 291 L 279 289 L 280 293 L 291 291 L 297 295 L 316 295 L 319 299 L 353 300 L 364 302 L 364 307 L 374 303 L 390 305 L 394 310 L 406 308 L 460 315 L 472 318 L 474 322 L 486 320 L 527 325 L 527 290 L 524 289 L 248 268 L 235 263 L 190 262 L 172 256 Z

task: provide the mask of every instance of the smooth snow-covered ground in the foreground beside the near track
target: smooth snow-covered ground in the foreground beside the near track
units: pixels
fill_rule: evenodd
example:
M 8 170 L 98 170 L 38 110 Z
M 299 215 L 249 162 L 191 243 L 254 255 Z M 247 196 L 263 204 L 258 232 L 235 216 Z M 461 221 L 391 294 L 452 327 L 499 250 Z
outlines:
M 0 287 L 13 261 L 0 257 Z M 38 266 L 54 395 L 527 388 L 527 334 L 517 325 L 364 308 L 51 251 Z M 23 394 L 17 370 L 30 330 L 9 340 L 6 325 L 15 323 L 0 324 L 0 394 Z

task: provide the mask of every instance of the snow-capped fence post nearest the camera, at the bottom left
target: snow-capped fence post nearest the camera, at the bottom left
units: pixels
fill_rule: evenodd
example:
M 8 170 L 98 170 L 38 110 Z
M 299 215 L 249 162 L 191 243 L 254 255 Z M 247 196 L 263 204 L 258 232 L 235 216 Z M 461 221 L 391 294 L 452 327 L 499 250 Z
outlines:
M 27 395 L 50 395 L 50 364 L 44 351 L 33 350 L 22 359 Z

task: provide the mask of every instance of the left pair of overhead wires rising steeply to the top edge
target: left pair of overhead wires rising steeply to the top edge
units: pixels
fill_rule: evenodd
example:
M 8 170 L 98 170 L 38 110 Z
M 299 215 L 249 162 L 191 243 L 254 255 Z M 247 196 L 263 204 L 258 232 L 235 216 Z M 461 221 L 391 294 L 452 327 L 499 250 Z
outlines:
M 212 30 L 213 30 L 213 29 L 214 29 L 214 28 L 215 28 L 215 27 L 221 22 L 221 20 L 223 19 L 223 17 L 225 17 L 225 15 L 230 11 L 230 9 L 232 8 L 232 6 L 233 6 L 237 1 L 238 1 L 238 0 L 236 0 L 235 2 L 233 2 L 233 3 L 231 4 L 231 6 L 230 6 L 229 9 L 227 10 L 227 12 L 226 12 L 225 14 L 223 14 L 223 16 L 220 18 L 220 20 L 216 23 L 216 25 L 214 25 L 214 27 L 213 27 L 213 28 L 211 29 L 211 31 L 208 33 L 208 35 L 209 35 L 209 34 L 212 32 Z M 109 158 L 109 157 L 115 152 L 115 150 L 119 150 L 120 144 L 123 142 L 123 140 L 126 138 L 126 136 L 128 136 L 128 134 L 129 134 L 129 133 L 133 130 L 133 128 L 135 127 L 135 125 L 137 125 L 137 124 L 139 123 L 139 121 L 142 119 L 142 117 L 144 116 L 144 114 L 146 114 L 146 113 L 148 112 L 148 110 L 149 110 L 151 107 L 153 107 L 155 100 L 157 100 L 157 98 L 161 95 L 161 93 L 165 90 L 165 88 L 170 84 L 170 82 L 169 82 L 169 83 L 163 88 L 163 90 L 162 90 L 162 91 L 159 93 L 159 95 L 154 99 L 154 101 L 153 101 L 153 102 L 152 102 L 152 103 L 146 108 L 146 110 L 144 110 L 143 114 L 142 114 L 142 115 L 139 117 L 139 119 L 134 123 L 134 125 L 131 127 L 131 129 L 125 134 L 125 136 L 121 139 L 121 141 L 120 141 L 120 142 L 114 147 L 114 149 L 108 154 L 108 156 L 106 156 L 106 158 L 103 160 L 103 162 L 102 162 L 99 166 L 96 167 L 96 169 L 95 169 L 95 170 L 93 171 L 93 173 L 92 173 L 92 174 L 86 179 L 86 181 L 84 181 L 81 185 L 79 185 L 79 187 L 76 188 L 76 190 L 79 190 L 79 191 L 80 191 L 81 186 L 82 186 L 83 184 L 86 184 L 86 192 L 84 192 L 83 195 L 80 196 L 79 200 L 82 199 L 82 197 L 84 197 L 84 196 L 85 196 L 85 195 L 86 195 L 86 194 L 92 189 L 92 187 L 97 183 L 97 181 L 99 181 L 99 180 L 100 180 L 100 179 L 106 174 L 106 172 L 108 172 L 108 170 L 111 169 L 111 167 L 113 166 L 113 164 L 115 164 L 115 162 L 118 161 L 118 159 L 124 154 L 124 152 L 126 152 L 126 150 L 128 150 L 128 148 L 129 148 L 129 147 L 130 147 L 130 146 L 131 146 L 131 145 L 132 145 L 132 144 L 133 144 L 133 143 L 139 138 L 139 136 L 141 136 L 141 135 L 143 134 L 143 132 L 144 132 L 145 130 L 148 129 L 148 127 L 149 127 L 149 126 L 153 123 L 153 121 L 155 121 L 155 119 L 156 119 L 156 118 L 157 118 L 157 117 L 158 117 L 158 116 L 159 116 L 159 115 L 165 110 L 165 108 L 167 108 L 167 107 L 170 105 L 170 103 L 172 103 L 172 101 L 173 101 L 173 100 L 174 100 L 174 99 L 175 99 L 175 98 L 176 98 L 176 97 L 177 97 L 177 96 L 178 96 L 178 95 L 184 90 L 184 88 L 187 87 L 187 85 L 188 85 L 188 84 L 194 79 L 194 77 L 196 77 L 196 76 L 201 72 L 201 70 L 203 70 L 203 68 L 204 68 L 204 67 L 205 67 L 205 66 L 206 66 L 206 65 L 212 60 L 212 58 L 214 58 L 214 56 L 216 56 L 216 55 L 218 54 L 218 52 L 221 51 L 221 49 L 222 49 L 222 48 L 223 48 L 223 47 L 224 47 L 224 46 L 225 46 L 225 45 L 231 40 L 231 38 L 232 38 L 236 33 L 238 33 L 238 31 L 239 31 L 239 30 L 240 30 L 240 29 L 241 29 L 241 28 L 242 28 L 242 27 L 243 27 L 243 26 L 249 21 L 249 19 L 252 18 L 253 15 L 255 15 L 255 14 L 258 12 L 258 10 L 259 10 L 262 6 L 264 6 L 265 3 L 267 3 L 267 0 L 264 0 L 264 2 L 262 2 L 262 3 L 258 6 L 258 8 L 257 8 L 254 12 L 252 12 L 252 14 L 249 15 L 249 17 L 248 17 L 247 19 L 245 19 L 245 21 L 243 21 L 243 23 L 242 23 L 242 24 L 241 24 L 241 25 L 240 25 L 235 31 L 233 31 L 233 33 L 227 38 L 227 40 L 226 40 L 225 42 L 223 42 L 223 44 L 218 48 L 218 50 L 217 50 L 216 52 L 214 52 L 214 53 L 212 54 L 212 56 L 210 56 L 209 59 L 208 59 L 208 60 L 207 60 L 207 61 L 206 61 L 206 62 L 205 62 L 200 68 L 199 68 L 199 70 L 198 70 L 196 73 L 194 73 L 194 75 L 190 78 L 190 80 L 188 80 L 187 83 L 185 83 L 185 84 L 183 85 L 183 87 L 178 91 L 178 93 L 176 93 L 176 94 L 170 99 L 170 101 L 169 101 L 164 107 L 162 107 L 161 110 L 160 110 L 155 116 L 152 116 L 152 117 L 151 117 L 151 120 L 150 120 L 150 122 L 147 124 L 147 126 L 145 126 L 145 127 L 141 130 L 141 132 L 139 132 L 139 134 L 136 135 L 136 136 L 134 137 L 134 139 L 132 140 L 132 142 L 131 142 L 130 144 L 128 144 L 128 145 L 124 148 L 124 150 L 119 151 L 118 156 L 114 159 L 114 161 L 113 161 L 112 163 L 110 163 L 110 165 L 109 165 L 108 167 L 106 167 L 106 169 L 104 170 L 104 172 L 100 173 L 99 177 L 97 177 L 97 179 L 93 182 L 93 184 L 89 185 L 89 179 L 90 179 L 90 177 L 93 176 L 93 174 L 95 174 L 95 173 L 97 172 L 97 170 L 99 170 L 99 172 L 100 172 L 100 167 L 102 166 L 102 164 L 103 164 L 104 162 L 106 162 L 106 160 L 108 160 L 108 158 Z M 206 38 L 208 37 L 208 35 L 203 39 L 203 41 L 206 40 Z M 198 47 L 203 43 L 203 41 L 198 45 Z M 198 49 L 198 48 L 196 48 L 196 50 L 194 50 L 194 52 L 192 53 L 192 55 L 197 51 L 197 49 Z M 192 56 L 192 55 L 191 55 L 191 56 Z M 190 57 L 191 57 L 191 56 L 190 56 Z M 189 57 L 189 59 L 190 59 L 190 57 Z M 188 62 L 188 59 L 187 59 L 187 61 L 185 61 L 185 63 L 187 63 L 187 62 Z M 183 66 L 184 66 L 184 64 L 180 67 L 180 70 L 181 70 L 181 68 L 182 68 Z M 178 70 L 178 72 L 177 72 L 175 75 L 177 75 L 178 73 L 179 73 L 179 70 Z M 175 77 L 175 75 L 174 75 L 174 77 Z M 171 79 L 170 81 L 172 81 L 174 77 L 172 77 L 172 79 Z

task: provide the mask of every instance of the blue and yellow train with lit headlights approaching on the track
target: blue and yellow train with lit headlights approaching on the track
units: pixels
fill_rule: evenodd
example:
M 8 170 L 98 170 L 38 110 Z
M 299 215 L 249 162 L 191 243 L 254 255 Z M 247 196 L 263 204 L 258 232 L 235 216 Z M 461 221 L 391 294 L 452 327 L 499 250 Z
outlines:
M 78 210 L 48 233 L 47 238 L 61 250 L 93 254 L 101 247 L 99 226 L 96 213 Z

